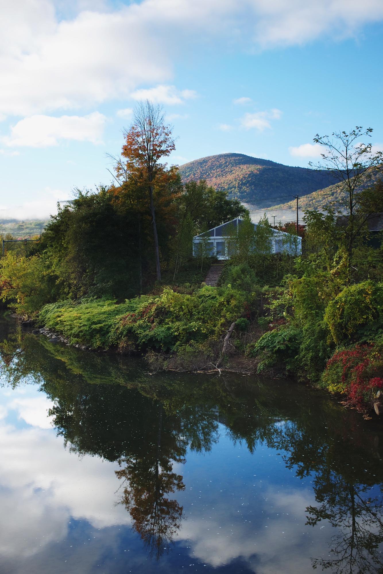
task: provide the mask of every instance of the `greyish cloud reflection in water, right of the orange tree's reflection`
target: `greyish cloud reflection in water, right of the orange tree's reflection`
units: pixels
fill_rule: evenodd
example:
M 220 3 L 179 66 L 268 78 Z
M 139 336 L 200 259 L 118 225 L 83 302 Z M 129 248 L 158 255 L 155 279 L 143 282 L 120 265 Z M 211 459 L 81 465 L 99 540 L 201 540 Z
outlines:
M 266 502 L 264 506 L 260 502 L 257 507 L 256 536 L 253 524 L 250 526 L 247 522 L 237 521 L 233 529 L 233 515 L 237 515 L 234 509 L 253 502 L 250 493 L 246 499 L 242 492 L 240 499 L 239 496 L 231 497 L 230 505 L 213 498 L 214 515 L 184 521 L 177 538 L 187 542 L 192 549 L 189 551 L 191 557 L 197 557 L 212 568 L 240 559 L 249 571 L 262 574 L 306 574 L 311 556 L 323 552 L 328 537 L 323 530 L 317 530 L 314 542 L 302 546 L 301 533 L 311 533 L 311 527 L 305 525 L 305 509 L 315 503 L 314 493 L 307 488 L 294 492 L 291 487 L 284 487 L 279 492 L 275 487 L 266 487 L 262 494 Z M 253 520 L 256 522 L 257 518 Z

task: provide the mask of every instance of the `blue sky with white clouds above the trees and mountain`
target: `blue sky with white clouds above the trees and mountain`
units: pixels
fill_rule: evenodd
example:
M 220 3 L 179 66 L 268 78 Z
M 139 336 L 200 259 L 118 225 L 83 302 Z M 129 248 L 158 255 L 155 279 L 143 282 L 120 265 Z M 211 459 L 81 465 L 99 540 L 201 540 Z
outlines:
M 109 184 L 134 106 L 164 106 L 169 164 L 318 158 L 315 134 L 383 148 L 382 0 L 0 0 L 0 219 Z

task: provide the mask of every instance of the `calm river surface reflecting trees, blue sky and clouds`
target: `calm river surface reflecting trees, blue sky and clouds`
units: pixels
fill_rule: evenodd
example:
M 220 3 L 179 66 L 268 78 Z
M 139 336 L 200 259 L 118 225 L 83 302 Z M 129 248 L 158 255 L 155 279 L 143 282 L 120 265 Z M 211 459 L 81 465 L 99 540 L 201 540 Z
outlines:
M 0 323 L 0 572 L 383 572 L 381 421 Z

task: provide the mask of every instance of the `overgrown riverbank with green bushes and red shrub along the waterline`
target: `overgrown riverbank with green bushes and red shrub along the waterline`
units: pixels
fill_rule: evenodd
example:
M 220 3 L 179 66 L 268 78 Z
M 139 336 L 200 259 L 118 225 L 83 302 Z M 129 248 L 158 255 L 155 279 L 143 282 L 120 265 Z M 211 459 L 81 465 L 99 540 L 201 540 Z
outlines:
M 355 286 L 342 292 L 344 300 L 348 290 L 346 302 L 351 308 L 361 306 L 362 289 L 370 301 L 374 294 L 367 282 L 357 288 L 356 297 Z M 347 345 L 341 338 L 336 344 L 332 333 L 339 337 L 341 328 L 352 325 L 349 321 L 342 327 L 336 298 L 338 307 L 331 314 L 325 310 L 325 320 L 300 325 L 283 310 L 285 297 L 282 288 L 254 288 L 253 292 L 230 285 L 164 288 L 121 304 L 90 298 L 59 301 L 42 307 L 36 321 L 41 333 L 53 340 L 81 350 L 144 355 L 154 370 L 226 370 L 297 379 L 326 389 L 358 410 L 379 414 L 380 332 L 364 336 L 361 342 L 349 338 Z

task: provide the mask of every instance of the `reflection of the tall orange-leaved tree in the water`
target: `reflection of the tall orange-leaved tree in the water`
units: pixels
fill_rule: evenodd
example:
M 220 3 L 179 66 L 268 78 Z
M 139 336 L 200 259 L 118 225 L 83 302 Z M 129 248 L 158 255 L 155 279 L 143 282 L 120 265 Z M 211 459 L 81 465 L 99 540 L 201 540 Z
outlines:
M 173 472 L 173 461 L 184 463 L 184 459 L 161 447 L 162 410 L 160 405 L 157 445 L 149 445 L 145 456 L 124 457 L 119 463 L 125 468 L 116 471 L 118 478 L 127 482 L 121 503 L 133 518 L 134 529 L 149 548 L 150 556 L 157 560 L 172 543 L 183 512 L 183 507 L 166 495 L 185 488 L 183 477 Z

